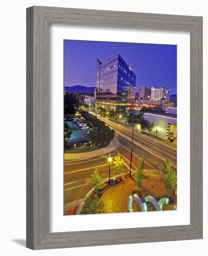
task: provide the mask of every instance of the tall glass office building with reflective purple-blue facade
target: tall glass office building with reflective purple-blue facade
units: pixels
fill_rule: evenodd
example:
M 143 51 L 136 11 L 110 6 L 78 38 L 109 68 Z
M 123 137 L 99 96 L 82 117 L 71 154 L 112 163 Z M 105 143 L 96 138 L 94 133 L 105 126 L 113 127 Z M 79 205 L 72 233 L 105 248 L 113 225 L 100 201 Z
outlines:
M 104 63 L 97 59 L 96 101 L 124 101 L 135 99 L 136 75 L 116 54 Z

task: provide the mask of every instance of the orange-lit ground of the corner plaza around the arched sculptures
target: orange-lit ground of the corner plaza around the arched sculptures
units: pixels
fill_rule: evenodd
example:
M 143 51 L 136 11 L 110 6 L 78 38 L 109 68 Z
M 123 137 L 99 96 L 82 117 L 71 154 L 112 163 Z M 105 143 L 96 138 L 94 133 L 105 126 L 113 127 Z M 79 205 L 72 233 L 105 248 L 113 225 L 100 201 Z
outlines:
M 152 195 L 157 200 L 168 197 L 168 189 L 164 185 L 165 175 L 162 172 L 144 171 L 145 178 L 140 188 L 133 182 L 131 178 L 122 176 L 123 182 L 119 182 L 114 186 L 107 186 L 103 189 L 103 195 L 100 200 L 104 202 L 104 213 L 128 212 L 128 197 L 138 194 L 145 202 L 145 196 Z M 169 204 L 163 205 L 163 210 L 172 210 L 177 204 L 177 197 L 174 193 L 170 193 Z M 155 211 L 150 202 L 146 202 L 148 211 Z M 135 202 L 133 202 L 133 211 L 139 211 Z

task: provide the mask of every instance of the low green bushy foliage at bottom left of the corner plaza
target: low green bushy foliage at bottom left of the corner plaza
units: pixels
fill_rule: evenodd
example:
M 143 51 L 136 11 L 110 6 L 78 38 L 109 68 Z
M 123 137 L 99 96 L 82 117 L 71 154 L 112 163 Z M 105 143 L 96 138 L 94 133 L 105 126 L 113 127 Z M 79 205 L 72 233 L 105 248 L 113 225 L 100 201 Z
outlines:
M 99 214 L 103 213 L 104 202 L 99 201 L 99 198 L 91 198 L 85 201 L 84 206 L 82 208 L 81 214 Z

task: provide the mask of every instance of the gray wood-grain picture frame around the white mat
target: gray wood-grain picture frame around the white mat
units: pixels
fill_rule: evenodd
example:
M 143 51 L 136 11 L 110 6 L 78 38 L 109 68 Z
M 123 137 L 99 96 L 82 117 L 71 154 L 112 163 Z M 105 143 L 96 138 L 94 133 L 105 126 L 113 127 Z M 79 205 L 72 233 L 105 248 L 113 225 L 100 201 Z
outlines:
M 53 249 L 202 238 L 202 17 L 57 7 L 27 8 L 26 246 Z M 49 232 L 49 25 L 190 32 L 190 225 Z

